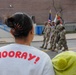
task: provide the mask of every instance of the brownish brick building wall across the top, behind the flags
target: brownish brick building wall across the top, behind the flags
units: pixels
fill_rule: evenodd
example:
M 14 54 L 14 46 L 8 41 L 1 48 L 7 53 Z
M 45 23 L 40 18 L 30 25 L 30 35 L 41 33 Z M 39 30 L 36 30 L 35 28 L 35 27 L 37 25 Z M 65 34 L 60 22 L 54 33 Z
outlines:
M 15 12 L 24 12 L 34 16 L 37 24 L 43 24 L 50 9 L 52 19 L 59 12 L 64 22 L 76 22 L 76 0 L 0 0 L 2 20 Z

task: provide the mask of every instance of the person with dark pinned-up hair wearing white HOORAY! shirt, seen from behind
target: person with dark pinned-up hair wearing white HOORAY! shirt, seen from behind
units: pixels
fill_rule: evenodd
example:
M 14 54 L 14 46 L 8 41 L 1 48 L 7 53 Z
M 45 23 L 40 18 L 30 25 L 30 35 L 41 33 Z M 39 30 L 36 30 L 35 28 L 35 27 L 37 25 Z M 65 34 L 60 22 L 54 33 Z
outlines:
M 0 75 L 54 75 L 50 57 L 30 46 L 34 37 L 31 18 L 16 13 L 6 20 L 6 25 L 15 43 L 0 48 Z

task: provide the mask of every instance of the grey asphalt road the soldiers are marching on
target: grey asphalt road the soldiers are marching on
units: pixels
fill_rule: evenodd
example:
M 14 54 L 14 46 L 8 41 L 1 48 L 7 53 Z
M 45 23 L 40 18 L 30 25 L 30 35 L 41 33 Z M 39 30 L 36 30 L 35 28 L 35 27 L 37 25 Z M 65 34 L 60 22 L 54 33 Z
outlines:
M 4 46 L 4 45 L 7 45 L 7 44 L 0 44 L 0 47 Z M 67 40 L 67 44 L 68 44 L 69 50 L 76 51 L 76 40 Z M 42 42 L 32 42 L 31 45 L 34 46 L 34 47 L 36 47 L 36 48 L 38 48 L 38 49 L 40 49 L 41 51 L 46 52 L 51 58 L 53 58 L 54 56 L 56 56 L 58 53 L 62 52 L 62 51 L 59 51 L 57 53 L 57 52 L 50 51 L 48 49 L 42 49 L 42 48 L 40 48 L 40 46 L 42 45 Z M 48 45 L 48 48 L 49 48 L 49 46 L 50 45 Z

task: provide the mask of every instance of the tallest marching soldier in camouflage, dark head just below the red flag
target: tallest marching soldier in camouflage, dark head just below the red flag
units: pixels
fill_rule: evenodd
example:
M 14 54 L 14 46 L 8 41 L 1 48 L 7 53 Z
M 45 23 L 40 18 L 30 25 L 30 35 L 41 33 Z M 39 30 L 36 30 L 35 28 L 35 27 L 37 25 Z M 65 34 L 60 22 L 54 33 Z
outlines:
M 58 35 L 59 31 L 60 31 L 60 28 L 61 28 L 62 24 L 60 24 L 60 20 L 58 20 L 56 22 L 56 26 L 55 26 L 55 29 L 54 29 L 54 33 L 52 35 L 52 40 L 51 40 L 51 47 L 49 48 L 49 50 L 52 50 L 52 51 L 55 51 L 56 49 L 56 44 L 58 43 L 60 37 Z

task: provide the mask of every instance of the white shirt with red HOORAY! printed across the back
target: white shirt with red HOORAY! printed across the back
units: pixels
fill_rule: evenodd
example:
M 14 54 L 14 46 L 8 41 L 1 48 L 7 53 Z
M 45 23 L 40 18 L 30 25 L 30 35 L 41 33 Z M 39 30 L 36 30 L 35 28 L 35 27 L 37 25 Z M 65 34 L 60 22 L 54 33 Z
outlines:
M 32 47 L 10 44 L 0 48 L 0 75 L 55 75 L 50 57 Z

